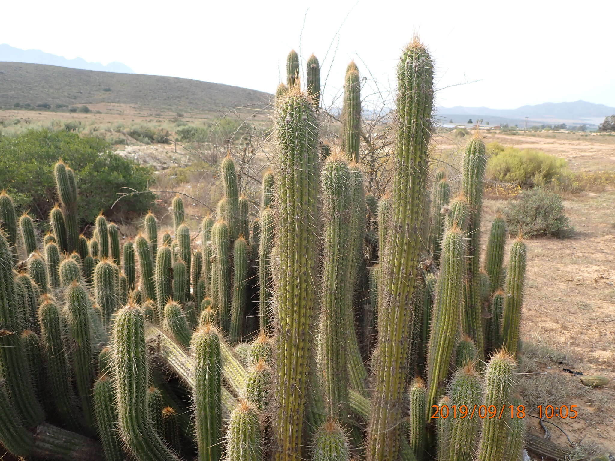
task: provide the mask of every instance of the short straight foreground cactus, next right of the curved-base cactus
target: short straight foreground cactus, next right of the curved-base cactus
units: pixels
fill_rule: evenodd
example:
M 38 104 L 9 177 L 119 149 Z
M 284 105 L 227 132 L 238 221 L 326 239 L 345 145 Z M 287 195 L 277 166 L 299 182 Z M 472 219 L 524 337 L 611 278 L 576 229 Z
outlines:
M 221 356 L 215 328 L 205 325 L 192 336 L 194 416 L 199 461 L 219 461 L 221 454 Z

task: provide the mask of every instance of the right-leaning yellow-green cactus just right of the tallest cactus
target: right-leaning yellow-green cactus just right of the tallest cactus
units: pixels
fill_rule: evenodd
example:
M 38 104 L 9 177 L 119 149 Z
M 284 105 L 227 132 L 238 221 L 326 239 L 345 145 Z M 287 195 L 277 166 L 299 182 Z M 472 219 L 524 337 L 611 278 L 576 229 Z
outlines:
M 444 393 L 455 336 L 459 329 L 459 309 L 463 293 L 464 238 L 461 229 L 453 227 L 446 230 L 442 239 L 442 264 L 436 286 L 427 355 L 429 385 L 427 408 L 429 409 Z

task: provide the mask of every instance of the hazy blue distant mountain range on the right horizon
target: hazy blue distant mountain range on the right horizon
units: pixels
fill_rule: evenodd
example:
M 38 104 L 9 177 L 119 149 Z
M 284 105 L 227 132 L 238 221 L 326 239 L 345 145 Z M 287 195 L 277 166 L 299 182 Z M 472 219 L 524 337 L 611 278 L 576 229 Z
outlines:
M 605 106 L 605 104 L 588 103 L 587 101 L 574 101 L 573 103 L 542 103 L 535 106 L 521 106 L 517 109 L 490 109 L 486 107 L 464 107 L 454 106 L 451 108 L 438 108 L 438 116 L 442 119 L 448 117 L 454 122 L 454 116 L 473 117 L 489 120 L 493 125 L 496 123 L 510 123 L 507 120 L 515 120 L 514 123 L 525 122 L 528 117 L 528 125 L 540 123 L 567 123 L 572 125 L 589 124 L 596 125 L 606 116 L 615 114 L 615 108 Z M 504 121 L 506 120 L 506 121 Z M 446 120 L 448 121 L 448 120 Z

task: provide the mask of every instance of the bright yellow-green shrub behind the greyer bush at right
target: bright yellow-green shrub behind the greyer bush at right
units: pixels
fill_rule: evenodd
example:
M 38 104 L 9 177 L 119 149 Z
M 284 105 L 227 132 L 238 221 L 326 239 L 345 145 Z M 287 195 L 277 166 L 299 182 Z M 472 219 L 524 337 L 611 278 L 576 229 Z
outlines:
M 490 143 L 491 146 L 492 143 Z M 536 149 L 505 148 L 491 151 L 486 178 L 517 183 L 524 189 L 547 186 L 567 170 L 566 160 Z

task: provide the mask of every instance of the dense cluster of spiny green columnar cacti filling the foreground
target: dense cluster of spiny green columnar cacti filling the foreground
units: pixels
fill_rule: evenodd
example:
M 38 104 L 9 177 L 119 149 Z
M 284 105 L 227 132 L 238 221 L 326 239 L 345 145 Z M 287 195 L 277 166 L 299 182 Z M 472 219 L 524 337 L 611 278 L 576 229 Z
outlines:
M 42 226 L 17 220 L 0 195 L 0 444 L 12 454 L 519 459 L 516 414 L 442 417 L 443 405 L 521 404 L 514 356 L 526 250 L 514 242 L 504 270 L 498 216 L 481 262 L 483 141 L 467 146 L 455 199 L 437 171 L 430 205 L 433 63 L 411 42 L 397 68 L 393 181 L 378 200 L 357 163 L 354 63 L 341 149 L 320 141 L 318 60 L 308 60 L 305 92 L 297 53 L 287 70 L 258 217 L 231 157 L 198 235 L 179 195 L 168 232 L 148 213 L 125 238 L 101 214 L 91 237 L 80 235 L 75 173 L 62 162 L 61 207 L 42 242 Z

